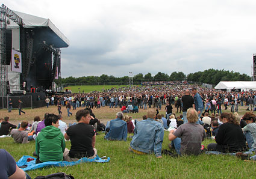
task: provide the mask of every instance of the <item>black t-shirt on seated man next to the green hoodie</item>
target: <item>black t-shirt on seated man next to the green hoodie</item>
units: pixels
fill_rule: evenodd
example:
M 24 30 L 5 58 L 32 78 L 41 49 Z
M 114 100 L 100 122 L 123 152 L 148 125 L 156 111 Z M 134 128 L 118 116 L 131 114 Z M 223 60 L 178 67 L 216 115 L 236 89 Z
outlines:
M 92 137 L 95 135 L 92 125 L 78 123 L 67 129 L 67 135 L 70 137 L 71 148 L 69 157 L 81 159 L 94 155 L 92 147 Z

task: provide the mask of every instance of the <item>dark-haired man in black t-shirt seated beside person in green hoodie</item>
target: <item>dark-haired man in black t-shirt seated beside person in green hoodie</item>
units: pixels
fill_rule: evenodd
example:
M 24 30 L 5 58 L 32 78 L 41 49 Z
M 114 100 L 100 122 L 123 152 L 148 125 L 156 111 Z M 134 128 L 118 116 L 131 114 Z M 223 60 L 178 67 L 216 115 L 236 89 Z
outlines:
M 95 131 L 90 124 L 92 116 L 90 116 L 90 111 L 86 109 L 81 109 L 76 112 L 75 115 L 78 124 L 70 126 L 64 135 L 66 140 L 71 141 L 71 148 L 67 148 L 64 151 L 64 160 L 68 162 L 77 161 L 83 157 L 89 159 L 94 159 L 97 155 L 97 150 L 95 148 Z

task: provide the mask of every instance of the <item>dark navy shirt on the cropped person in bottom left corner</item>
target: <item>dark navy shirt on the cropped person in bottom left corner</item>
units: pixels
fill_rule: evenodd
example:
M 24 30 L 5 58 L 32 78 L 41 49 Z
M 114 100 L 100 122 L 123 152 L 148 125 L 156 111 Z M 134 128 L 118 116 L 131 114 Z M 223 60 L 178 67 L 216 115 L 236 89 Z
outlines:
M 0 178 L 8 179 L 16 172 L 16 162 L 4 149 L 0 149 Z

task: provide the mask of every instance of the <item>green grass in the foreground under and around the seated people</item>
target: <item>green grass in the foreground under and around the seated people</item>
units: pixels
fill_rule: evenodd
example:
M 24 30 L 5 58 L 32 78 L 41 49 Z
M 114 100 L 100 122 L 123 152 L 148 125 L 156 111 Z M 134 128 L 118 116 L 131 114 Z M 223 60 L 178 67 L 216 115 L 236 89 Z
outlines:
M 168 132 L 164 133 L 163 148 L 169 143 Z M 29 171 L 31 178 L 55 172 L 66 172 L 75 178 L 255 178 L 254 162 L 244 162 L 233 156 L 184 156 L 172 158 L 163 156 L 156 159 L 154 155 L 130 153 L 128 141 L 105 141 L 104 134 L 96 136 L 96 148 L 100 157 L 110 157 L 108 163 L 83 163 L 63 168 L 43 168 Z M 205 146 L 214 142 L 206 140 Z M 12 138 L 1 138 L 0 146 L 7 150 L 17 161 L 23 155 L 32 155 L 35 142 L 30 144 L 14 144 Z M 70 141 L 66 142 L 70 148 Z

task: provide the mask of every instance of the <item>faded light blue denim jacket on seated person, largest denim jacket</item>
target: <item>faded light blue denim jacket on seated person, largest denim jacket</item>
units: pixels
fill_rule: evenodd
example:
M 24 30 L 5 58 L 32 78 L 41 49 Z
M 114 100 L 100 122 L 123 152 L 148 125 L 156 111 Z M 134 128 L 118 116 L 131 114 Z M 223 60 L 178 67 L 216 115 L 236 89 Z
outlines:
M 148 118 L 139 121 L 134 129 L 131 148 L 143 153 L 154 153 L 156 157 L 161 156 L 164 129 L 161 123 Z

